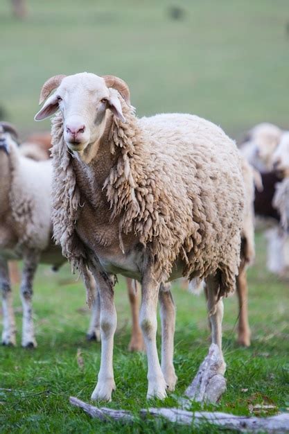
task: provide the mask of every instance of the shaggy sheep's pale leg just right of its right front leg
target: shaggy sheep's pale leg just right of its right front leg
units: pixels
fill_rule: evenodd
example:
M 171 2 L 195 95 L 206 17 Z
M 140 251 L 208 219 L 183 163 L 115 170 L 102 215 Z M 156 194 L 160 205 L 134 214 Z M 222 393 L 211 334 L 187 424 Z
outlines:
M 168 390 L 175 390 L 177 376 L 173 365 L 173 340 L 175 335 L 175 304 L 170 292 L 170 285 L 161 285 L 159 290 L 161 315 L 161 371 L 168 385 Z

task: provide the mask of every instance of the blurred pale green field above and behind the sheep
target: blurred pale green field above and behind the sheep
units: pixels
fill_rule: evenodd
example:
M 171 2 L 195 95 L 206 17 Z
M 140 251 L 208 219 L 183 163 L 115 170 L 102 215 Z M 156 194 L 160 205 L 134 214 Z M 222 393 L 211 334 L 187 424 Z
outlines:
M 22 135 L 44 80 L 111 73 L 137 114 L 190 112 L 233 137 L 255 123 L 289 127 L 288 0 L 28 0 L 0 2 L 0 107 Z

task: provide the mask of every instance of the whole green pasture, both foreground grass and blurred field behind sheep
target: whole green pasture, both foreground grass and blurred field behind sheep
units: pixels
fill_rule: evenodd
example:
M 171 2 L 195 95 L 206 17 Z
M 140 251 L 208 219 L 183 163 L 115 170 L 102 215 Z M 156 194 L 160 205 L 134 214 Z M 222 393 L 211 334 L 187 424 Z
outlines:
M 178 4 L 184 16 L 174 20 L 168 0 L 30 0 L 28 17 L 17 21 L 9 2 L 1 2 L 0 108 L 6 120 L 17 125 L 21 137 L 48 130 L 49 121 L 33 121 L 44 80 L 86 70 L 125 79 L 139 116 L 191 112 L 221 125 L 234 138 L 261 121 L 288 128 L 288 1 Z M 207 409 L 236 415 L 288 411 L 288 281 L 265 270 L 261 234 L 256 247 L 256 262 L 248 272 L 252 346 L 236 344 L 238 306 L 236 296 L 230 297 L 223 321 L 227 392 Z M 20 331 L 21 302 L 14 289 Z M 207 354 L 204 295 L 187 293 L 179 282 L 173 295 L 179 381 L 164 402 L 147 403 L 146 355 L 128 352 L 131 319 L 125 281 L 119 279 L 117 389 L 106 406 L 131 410 L 136 417 L 131 426 L 104 424 L 69 404 L 71 395 L 89 401 L 100 365 L 100 343 L 85 340 L 85 290 L 71 277 L 69 266 L 56 274 L 41 266 L 33 298 L 38 347 L 21 349 L 18 333 L 16 348 L 0 348 L 1 433 L 218 432 L 209 426 L 200 430 L 138 417 L 148 406 L 177 406 Z M 200 405 L 194 403 L 191 409 Z

